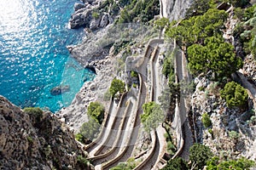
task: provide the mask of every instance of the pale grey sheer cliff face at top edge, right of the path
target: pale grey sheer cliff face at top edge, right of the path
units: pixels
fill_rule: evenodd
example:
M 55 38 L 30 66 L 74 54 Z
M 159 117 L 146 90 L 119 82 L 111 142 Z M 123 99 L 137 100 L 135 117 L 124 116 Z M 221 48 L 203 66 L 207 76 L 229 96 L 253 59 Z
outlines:
M 160 15 L 170 20 L 183 18 L 193 0 L 160 0 Z

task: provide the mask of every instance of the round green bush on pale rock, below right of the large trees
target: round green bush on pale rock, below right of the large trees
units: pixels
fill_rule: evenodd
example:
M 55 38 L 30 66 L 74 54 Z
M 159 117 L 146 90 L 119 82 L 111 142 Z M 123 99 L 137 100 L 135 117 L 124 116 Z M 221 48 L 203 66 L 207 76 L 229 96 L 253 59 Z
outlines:
M 221 97 L 225 99 L 229 107 L 247 107 L 248 94 L 245 88 L 236 82 L 228 82 L 220 91 Z

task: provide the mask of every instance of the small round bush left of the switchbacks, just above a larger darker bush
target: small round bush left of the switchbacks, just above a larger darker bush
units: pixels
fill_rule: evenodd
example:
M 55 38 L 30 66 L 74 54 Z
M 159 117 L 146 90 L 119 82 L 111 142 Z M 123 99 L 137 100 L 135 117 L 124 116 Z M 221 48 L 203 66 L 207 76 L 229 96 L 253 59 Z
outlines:
M 88 115 L 96 120 L 96 122 L 102 124 L 103 119 L 104 119 L 104 113 L 105 113 L 105 108 L 104 106 L 99 103 L 99 102 L 90 102 L 90 105 L 88 106 L 87 109 Z

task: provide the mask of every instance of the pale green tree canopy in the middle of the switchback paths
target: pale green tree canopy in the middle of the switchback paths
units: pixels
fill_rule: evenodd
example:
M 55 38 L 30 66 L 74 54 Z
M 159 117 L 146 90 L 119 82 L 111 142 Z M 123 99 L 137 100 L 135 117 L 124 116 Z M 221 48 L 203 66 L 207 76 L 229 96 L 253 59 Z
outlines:
M 156 104 L 154 101 L 143 104 L 141 121 L 147 132 L 158 127 L 161 122 L 164 122 L 165 115 L 161 110 L 160 105 Z

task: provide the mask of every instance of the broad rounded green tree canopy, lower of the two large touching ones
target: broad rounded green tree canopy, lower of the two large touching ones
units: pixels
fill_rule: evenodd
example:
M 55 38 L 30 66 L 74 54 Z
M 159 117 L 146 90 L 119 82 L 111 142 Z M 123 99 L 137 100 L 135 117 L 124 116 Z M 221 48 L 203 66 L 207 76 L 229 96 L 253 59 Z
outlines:
M 230 77 L 242 66 L 242 60 L 236 57 L 234 47 L 224 42 L 223 37 L 207 37 L 203 45 L 191 45 L 188 55 L 189 69 L 194 76 L 212 71 L 215 79 Z

